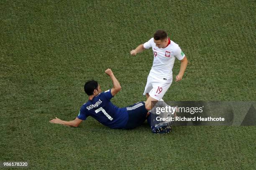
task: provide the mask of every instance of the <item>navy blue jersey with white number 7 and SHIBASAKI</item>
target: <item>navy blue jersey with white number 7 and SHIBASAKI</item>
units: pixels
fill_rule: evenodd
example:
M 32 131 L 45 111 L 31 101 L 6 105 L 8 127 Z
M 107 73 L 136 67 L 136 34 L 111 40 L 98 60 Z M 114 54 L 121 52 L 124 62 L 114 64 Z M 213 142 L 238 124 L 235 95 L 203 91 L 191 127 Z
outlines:
M 125 128 L 128 122 L 126 107 L 118 108 L 113 105 L 110 102 L 112 97 L 110 90 L 101 92 L 82 105 L 77 118 L 86 120 L 88 116 L 92 116 L 109 128 Z

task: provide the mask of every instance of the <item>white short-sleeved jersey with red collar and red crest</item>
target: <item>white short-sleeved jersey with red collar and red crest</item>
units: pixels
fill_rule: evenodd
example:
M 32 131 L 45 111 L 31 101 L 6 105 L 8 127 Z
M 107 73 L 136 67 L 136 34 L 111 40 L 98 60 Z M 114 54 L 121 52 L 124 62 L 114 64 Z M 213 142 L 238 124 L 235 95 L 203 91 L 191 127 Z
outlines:
M 156 47 L 154 38 L 143 44 L 143 47 L 148 49 L 152 47 L 154 61 L 149 72 L 149 75 L 161 82 L 172 82 L 172 67 L 174 60 L 182 60 L 185 55 L 180 49 L 179 45 L 170 40 L 165 48 Z

